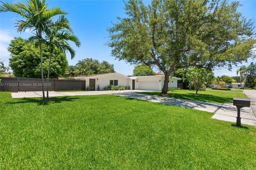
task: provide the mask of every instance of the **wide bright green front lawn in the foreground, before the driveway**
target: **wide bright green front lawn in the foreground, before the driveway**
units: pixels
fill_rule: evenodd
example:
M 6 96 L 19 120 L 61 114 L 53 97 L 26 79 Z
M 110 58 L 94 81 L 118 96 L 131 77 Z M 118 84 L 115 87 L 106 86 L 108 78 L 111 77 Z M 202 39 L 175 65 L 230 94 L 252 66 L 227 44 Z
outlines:
M 117 96 L 0 92 L 0 169 L 253 169 L 256 128 Z

